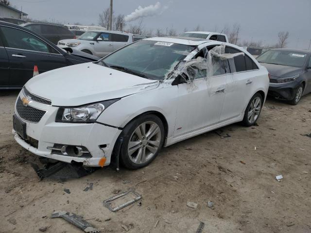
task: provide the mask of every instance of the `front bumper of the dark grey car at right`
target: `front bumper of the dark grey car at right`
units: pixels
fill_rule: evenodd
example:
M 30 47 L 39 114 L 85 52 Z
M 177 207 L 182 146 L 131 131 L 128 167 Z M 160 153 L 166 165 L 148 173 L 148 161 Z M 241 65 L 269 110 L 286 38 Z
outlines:
M 270 83 L 268 95 L 282 100 L 293 100 L 300 83 Z

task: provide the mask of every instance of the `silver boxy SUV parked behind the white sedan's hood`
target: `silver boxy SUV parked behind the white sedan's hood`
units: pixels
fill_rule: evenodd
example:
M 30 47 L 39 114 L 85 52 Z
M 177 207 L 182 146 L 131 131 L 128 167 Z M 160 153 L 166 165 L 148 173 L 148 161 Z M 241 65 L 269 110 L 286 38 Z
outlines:
M 138 35 L 117 31 L 87 31 L 79 36 L 79 39 L 60 40 L 57 46 L 60 48 L 75 48 L 89 54 L 104 57 L 109 53 L 119 50 L 123 46 L 132 43 Z

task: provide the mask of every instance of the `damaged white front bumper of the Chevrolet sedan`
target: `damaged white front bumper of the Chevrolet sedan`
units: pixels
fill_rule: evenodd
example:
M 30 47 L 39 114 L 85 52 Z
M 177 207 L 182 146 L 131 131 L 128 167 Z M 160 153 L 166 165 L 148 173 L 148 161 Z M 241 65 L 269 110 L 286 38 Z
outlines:
M 19 97 L 24 97 L 23 91 Z M 18 97 L 17 97 L 18 99 Z M 119 137 L 121 130 L 99 123 L 60 123 L 55 122 L 58 107 L 32 101 L 29 106 L 45 110 L 39 122 L 26 122 L 26 134 L 38 141 L 37 148 L 22 139 L 15 130 L 12 130 L 17 143 L 30 152 L 66 163 L 72 161 L 83 163 L 84 166 L 107 166 L 110 164 L 114 144 Z M 17 110 L 15 113 L 18 116 Z M 21 118 L 21 117 L 19 117 Z M 52 154 L 54 144 L 84 146 L 89 150 L 91 158 L 65 156 Z M 105 145 L 100 148 L 100 145 Z M 103 164 L 104 161 L 104 164 Z

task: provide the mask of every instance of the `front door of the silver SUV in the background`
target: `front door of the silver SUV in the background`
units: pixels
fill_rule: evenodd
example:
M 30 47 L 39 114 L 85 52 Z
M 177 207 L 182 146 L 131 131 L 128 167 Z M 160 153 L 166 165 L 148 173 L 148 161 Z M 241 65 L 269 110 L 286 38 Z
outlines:
M 111 33 L 101 33 L 94 41 L 94 50 L 99 57 L 105 57 L 113 52 L 113 42 Z

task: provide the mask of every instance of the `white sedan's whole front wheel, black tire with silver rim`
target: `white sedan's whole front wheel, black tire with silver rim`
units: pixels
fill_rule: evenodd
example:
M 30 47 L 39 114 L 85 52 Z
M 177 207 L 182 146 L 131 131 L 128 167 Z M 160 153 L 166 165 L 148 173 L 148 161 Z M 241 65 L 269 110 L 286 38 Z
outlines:
M 148 134 L 152 134 L 151 138 Z M 139 116 L 130 122 L 122 132 L 121 163 L 128 169 L 150 164 L 163 146 L 164 134 L 161 119 L 153 114 Z

